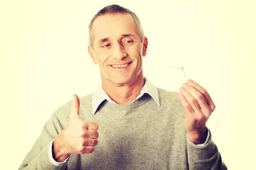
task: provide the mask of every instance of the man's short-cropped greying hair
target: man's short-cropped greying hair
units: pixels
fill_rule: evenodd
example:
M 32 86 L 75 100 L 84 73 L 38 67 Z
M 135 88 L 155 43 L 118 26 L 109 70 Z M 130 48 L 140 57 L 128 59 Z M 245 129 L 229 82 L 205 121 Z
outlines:
M 114 5 L 113 4 L 113 5 L 105 6 L 104 8 L 99 10 L 99 12 L 97 14 L 95 14 L 93 19 L 90 21 L 90 25 L 89 25 L 89 45 L 90 45 L 91 48 L 93 48 L 93 35 L 92 35 L 93 21 L 97 17 L 102 16 L 104 14 L 117 14 L 117 13 L 131 14 L 131 16 L 135 20 L 137 31 L 140 34 L 140 40 L 141 40 L 141 42 L 143 42 L 144 31 L 143 31 L 143 28 L 141 26 L 140 19 L 137 17 L 137 15 L 134 12 L 130 11 L 129 9 L 127 9 L 127 8 L 124 8 L 122 6 Z

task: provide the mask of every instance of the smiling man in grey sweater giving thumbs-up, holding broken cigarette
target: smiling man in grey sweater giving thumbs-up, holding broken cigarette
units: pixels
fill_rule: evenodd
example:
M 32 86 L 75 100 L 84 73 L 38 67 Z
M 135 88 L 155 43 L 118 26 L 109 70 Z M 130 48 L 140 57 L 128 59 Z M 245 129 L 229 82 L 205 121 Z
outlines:
M 148 40 L 136 14 L 106 6 L 89 33 L 102 85 L 52 114 L 20 170 L 227 169 L 206 127 L 207 91 L 189 79 L 171 92 L 143 77 Z

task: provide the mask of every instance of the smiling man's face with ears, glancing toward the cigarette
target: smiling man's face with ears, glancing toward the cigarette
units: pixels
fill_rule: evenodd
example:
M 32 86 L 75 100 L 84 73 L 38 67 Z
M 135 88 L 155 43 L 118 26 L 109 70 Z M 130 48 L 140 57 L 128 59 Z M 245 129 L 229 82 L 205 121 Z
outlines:
M 147 38 L 143 43 L 131 14 L 105 14 L 92 26 L 93 49 L 88 47 L 94 64 L 99 63 L 102 79 L 117 85 L 133 83 L 142 70 Z M 122 65 L 126 67 L 113 67 Z

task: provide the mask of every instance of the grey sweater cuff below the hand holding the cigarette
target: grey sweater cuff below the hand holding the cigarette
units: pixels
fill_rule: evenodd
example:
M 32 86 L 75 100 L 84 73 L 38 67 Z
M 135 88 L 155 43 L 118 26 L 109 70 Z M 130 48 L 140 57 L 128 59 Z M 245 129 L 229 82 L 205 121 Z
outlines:
M 212 157 L 216 152 L 215 143 L 212 141 L 212 133 L 208 128 L 209 140 L 204 146 L 198 146 L 191 142 L 186 134 L 188 157 L 192 160 L 202 160 Z

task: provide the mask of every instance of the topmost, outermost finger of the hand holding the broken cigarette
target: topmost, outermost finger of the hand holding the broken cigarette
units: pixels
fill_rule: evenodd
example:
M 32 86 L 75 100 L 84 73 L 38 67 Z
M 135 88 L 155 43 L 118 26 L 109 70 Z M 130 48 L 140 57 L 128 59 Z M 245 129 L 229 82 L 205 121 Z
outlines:
M 207 104 L 210 106 L 211 110 L 214 111 L 215 110 L 215 104 L 212 101 L 212 98 L 208 94 L 208 92 L 201 85 L 199 85 L 197 82 L 193 81 L 192 79 L 188 79 L 187 82 L 189 83 L 189 85 L 192 85 L 195 89 L 200 91 L 201 94 L 203 94 Z

